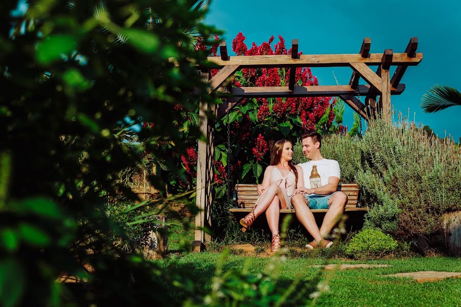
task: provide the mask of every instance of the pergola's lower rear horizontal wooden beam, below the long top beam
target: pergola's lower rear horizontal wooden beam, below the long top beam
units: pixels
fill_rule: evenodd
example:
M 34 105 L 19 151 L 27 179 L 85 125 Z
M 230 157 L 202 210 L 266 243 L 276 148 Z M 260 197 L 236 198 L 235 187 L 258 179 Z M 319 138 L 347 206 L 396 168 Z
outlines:
M 381 87 L 381 85 L 380 85 Z M 370 91 L 370 85 L 360 85 L 361 95 Z M 391 88 L 392 95 L 399 95 L 405 90 L 405 84 L 399 84 L 397 88 Z M 319 85 L 319 86 L 295 86 L 294 90 L 288 86 L 256 86 L 256 87 L 233 87 L 231 94 L 244 98 L 268 98 L 268 97 L 334 97 L 339 95 L 355 95 L 356 91 L 349 85 Z

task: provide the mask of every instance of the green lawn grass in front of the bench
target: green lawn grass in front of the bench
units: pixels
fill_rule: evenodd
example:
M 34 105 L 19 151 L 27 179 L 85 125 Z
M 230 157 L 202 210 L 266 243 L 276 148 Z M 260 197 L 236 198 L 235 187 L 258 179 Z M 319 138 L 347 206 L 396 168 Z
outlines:
M 193 276 L 197 289 L 203 293 L 211 290 L 211 280 L 215 274 L 219 253 L 189 253 L 183 257 L 157 261 L 163 267 L 181 268 Z M 259 273 L 265 269 L 269 258 L 230 255 L 224 270 L 241 271 L 247 266 L 249 272 Z M 460 306 L 461 279 L 417 283 L 410 279 L 382 277 L 380 275 L 416 272 L 448 271 L 461 272 L 461 259 L 451 257 L 413 257 L 407 259 L 386 259 L 369 261 L 329 260 L 328 263 L 389 264 L 392 267 L 376 269 L 354 269 L 334 273 L 329 286 L 318 305 L 321 306 Z M 246 265 L 245 265 L 246 264 Z M 289 287 L 302 273 L 302 280 L 308 284 L 319 273 L 311 265 L 326 264 L 325 259 L 286 258 L 280 261 L 279 287 Z M 328 273 L 323 272 L 322 279 Z M 180 296 L 180 294 L 178 294 Z M 179 298 L 179 297 L 178 297 Z

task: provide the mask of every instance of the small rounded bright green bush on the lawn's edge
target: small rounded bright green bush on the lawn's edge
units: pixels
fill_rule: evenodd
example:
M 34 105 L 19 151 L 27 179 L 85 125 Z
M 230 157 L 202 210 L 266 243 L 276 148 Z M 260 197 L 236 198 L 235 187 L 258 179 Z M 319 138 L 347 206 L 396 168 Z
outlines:
M 350 240 L 346 254 L 354 258 L 381 257 L 393 252 L 397 242 L 388 234 L 375 229 L 364 229 Z

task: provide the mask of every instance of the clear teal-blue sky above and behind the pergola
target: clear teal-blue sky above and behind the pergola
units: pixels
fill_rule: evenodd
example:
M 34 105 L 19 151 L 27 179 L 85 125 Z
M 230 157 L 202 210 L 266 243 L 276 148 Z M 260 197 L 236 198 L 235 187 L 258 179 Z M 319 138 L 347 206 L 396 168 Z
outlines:
M 290 45 L 299 39 L 303 54 L 358 53 L 364 37 L 371 38 L 371 53 L 385 49 L 404 52 L 412 36 L 418 38 L 417 52 L 424 58 L 416 67 L 409 67 L 402 79 L 406 90 L 392 96 L 391 103 L 404 115 L 415 118 L 416 124 L 429 125 L 439 136 L 461 137 L 458 117 L 461 107 L 426 114 L 421 97 L 434 84 L 444 84 L 461 91 L 461 2 L 421 0 L 394 1 L 212 1 L 205 21 L 225 31 L 228 51 L 232 40 L 243 32 L 246 45 L 258 45 L 274 35 L 282 35 Z M 290 46 L 287 46 L 290 48 Z M 313 68 L 321 85 L 348 84 L 350 68 Z M 391 76 L 393 71 L 391 71 Z M 364 83 L 361 80 L 361 84 Z M 352 109 L 346 105 L 344 122 L 352 126 Z M 416 113 L 416 115 L 414 115 Z

